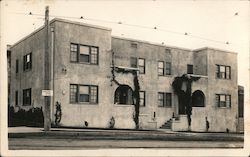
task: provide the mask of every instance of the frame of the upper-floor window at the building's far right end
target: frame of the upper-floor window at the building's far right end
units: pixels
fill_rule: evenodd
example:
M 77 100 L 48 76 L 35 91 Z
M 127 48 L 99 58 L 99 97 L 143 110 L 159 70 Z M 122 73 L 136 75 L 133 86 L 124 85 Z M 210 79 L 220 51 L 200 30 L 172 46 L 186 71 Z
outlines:
M 221 72 L 222 67 L 225 69 L 225 72 Z M 222 77 L 222 74 L 224 75 L 224 78 Z M 216 64 L 215 77 L 217 79 L 231 80 L 231 74 L 231 66 Z

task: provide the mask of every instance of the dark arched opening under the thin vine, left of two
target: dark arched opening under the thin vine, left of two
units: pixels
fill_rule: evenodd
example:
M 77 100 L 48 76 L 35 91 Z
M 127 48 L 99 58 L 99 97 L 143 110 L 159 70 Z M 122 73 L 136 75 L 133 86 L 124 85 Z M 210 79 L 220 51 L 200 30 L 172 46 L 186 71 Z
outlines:
M 128 85 L 120 85 L 115 90 L 115 104 L 132 105 L 133 103 L 133 90 Z

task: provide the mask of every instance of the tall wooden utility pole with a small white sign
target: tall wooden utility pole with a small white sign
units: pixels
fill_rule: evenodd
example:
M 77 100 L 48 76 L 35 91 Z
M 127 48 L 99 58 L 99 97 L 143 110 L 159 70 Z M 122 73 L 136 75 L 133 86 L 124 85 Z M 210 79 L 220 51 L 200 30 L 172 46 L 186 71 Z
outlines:
M 46 6 L 45 10 L 45 53 L 44 53 L 44 91 L 45 93 L 50 93 L 50 59 L 49 59 L 49 6 Z M 49 131 L 51 128 L 51 119 L 50 119 L 50 101 L 51 95 L 45 94 L 44 96 L 44 131 Z

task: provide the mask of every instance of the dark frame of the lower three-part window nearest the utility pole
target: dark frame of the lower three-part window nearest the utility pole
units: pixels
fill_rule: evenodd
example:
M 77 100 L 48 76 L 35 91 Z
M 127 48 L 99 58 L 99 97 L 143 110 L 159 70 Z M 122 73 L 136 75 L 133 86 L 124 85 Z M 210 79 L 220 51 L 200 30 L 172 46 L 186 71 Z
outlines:
M 72 88 L 71 88 L 71 86 L 76 86 L 76 98 L 75 98 L 75 101 L 71 101 L 72 99 Z M 89 100 L 87 101 L 87 102 L 80 102 L 80 92 L 79 92 L 79 89 L 80 89 L 80 86 L 86 86 L 86 87 L 88 87 L 89 89 L 88 89 L 88 95 L 89 95 Z M 94 104 L 94 105 L 98 105 L 98 103 L 99 103 L 99 89 L 98 89 L 98 86 L 97 85 L 87 85 L 87 84 L 70 84 L 69 85 L 69 87 L 70 87 L 70 91 L 69 91 L 69 103 L 70 104 Z M 91 93 L 92 91 L 91 91 L 91 88 L 92 87 L 94 87 L 94 88 L 96 88 L 96 95 L 95 95 L 95 99 L 96 99 L 96 102 L 92 102 L 91 101 L 91 97 L 92 97 L 92 94 L 93 93 Z

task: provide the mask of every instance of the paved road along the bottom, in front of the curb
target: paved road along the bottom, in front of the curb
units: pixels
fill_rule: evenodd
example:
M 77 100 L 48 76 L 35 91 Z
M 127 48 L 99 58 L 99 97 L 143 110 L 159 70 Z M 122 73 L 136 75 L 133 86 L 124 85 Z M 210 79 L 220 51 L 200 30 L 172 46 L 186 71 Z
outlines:
M 239 141 L 82 140 L 55 138 L 10 138 L 9 149 L 54 150 L 92 148 L 242 148 Z

